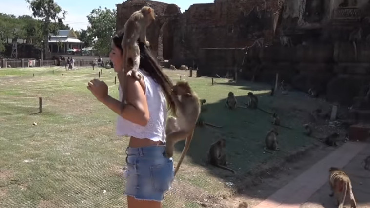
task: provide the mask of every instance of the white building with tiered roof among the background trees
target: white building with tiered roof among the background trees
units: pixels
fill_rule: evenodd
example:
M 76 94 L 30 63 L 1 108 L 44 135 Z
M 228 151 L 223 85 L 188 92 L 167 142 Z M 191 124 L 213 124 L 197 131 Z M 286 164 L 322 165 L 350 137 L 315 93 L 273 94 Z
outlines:
M 73 29 L 59 30 L 57 35 L 50 34 L 49 48 L 51 53 L 67 53 L 68 49 L 79 49 L 83 47 L 83 42 L 77 39 Z

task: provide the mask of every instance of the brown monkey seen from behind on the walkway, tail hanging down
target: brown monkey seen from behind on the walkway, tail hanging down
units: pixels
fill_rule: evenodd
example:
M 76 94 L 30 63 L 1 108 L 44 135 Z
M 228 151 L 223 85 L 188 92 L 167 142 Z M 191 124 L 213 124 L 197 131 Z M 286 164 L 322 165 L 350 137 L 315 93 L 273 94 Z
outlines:
M 346 196 L 349 196 L 350 198 L 351 208 L 357 208 L 349 176 L 344 171 L 335 167 L 331 167 L 329 169 L 329 172 L 329 184 L 332 191 L 329 196 L 335 195 L 338 203 L 338 208 L 343 208 Z

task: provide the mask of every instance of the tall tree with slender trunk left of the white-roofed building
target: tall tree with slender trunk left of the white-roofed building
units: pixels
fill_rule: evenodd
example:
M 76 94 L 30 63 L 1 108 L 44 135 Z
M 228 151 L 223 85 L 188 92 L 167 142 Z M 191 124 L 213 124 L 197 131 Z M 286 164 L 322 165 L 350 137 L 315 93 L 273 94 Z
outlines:
M 57 24 L 52 24 L 51 20 L 57 22 L 57 19 L 65 19 L 67 12 L 54 2 L 54 0 L 26 0 L 30 4 L 33 17 L 42 19 L 42 35 L 43 35 L 43 52 L 45 59 L 51 57 L 49 49 L 49 35 L 57 34 Z

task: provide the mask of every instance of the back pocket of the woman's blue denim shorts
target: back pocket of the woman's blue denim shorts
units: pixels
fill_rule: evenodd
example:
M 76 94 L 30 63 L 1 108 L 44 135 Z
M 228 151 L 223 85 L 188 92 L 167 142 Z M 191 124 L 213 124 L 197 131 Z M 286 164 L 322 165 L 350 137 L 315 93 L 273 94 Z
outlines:
M 157 191 L 167 191 L 173 178 L 173 162 L 167 162 L 150 167 L 151 181 L 153 189 Z

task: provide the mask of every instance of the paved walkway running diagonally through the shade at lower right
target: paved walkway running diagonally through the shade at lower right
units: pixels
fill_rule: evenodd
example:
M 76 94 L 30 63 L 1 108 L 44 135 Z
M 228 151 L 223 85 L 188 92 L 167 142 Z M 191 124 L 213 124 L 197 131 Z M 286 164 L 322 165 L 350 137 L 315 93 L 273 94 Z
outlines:
M 342 145 L 254 208 L 299 208 L 328 183 L 330 167 L 343 168 L 367 146 L 360 142 Z

